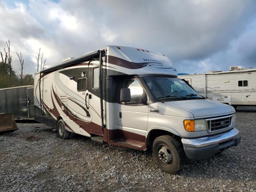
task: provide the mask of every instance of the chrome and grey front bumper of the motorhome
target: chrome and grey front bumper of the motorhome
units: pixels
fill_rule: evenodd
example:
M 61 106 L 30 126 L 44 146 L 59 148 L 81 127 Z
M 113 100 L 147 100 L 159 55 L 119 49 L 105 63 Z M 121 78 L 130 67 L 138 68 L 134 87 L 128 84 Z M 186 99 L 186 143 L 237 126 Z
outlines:
M 240 144 L 241 135 L 236 128 L 220 134 L 200 138 L 182 138 L 189 159 L 203 159 Z

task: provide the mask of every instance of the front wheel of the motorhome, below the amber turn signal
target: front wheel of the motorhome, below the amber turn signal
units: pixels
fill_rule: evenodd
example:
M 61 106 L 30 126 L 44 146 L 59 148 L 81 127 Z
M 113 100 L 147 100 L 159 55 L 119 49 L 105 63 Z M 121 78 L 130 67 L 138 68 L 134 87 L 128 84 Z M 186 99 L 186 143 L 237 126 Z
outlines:
M 182 145 L 170 135 L 156 138 L 153 142 L 152 151 L 156 165 L 166 173 L 175 174 L 185 164 Z

